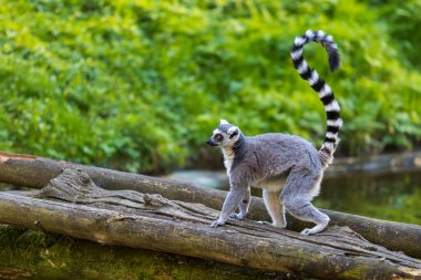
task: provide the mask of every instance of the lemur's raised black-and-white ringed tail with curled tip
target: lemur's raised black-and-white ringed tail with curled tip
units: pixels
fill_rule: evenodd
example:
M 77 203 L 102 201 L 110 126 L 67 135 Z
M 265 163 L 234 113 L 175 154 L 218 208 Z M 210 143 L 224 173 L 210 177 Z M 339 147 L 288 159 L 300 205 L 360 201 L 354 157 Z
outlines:
M 333 159 L 333 153 L 339 144 L 339 129 L 342 126 L 342 120 L 340 118 L 340 106 L 335 100 L 335 95 L 330 86 L 319 77 L 316 70 L 311 70 L 306 60 L 302 56 L 302 48 L 309 42 L 320 43 L 328 52 L 330 71 L 335 71 L 339 66 L 339 53 L 338 46 L 333 42 L 331 35 L 326 34 L 324 31 L 308 30 L 304 35 L 297 37 L 294 41 L 291 49 L 291 58 L 294 66 L 304 80 L 310 84 L 310 86 L 319 94 L 320 101 L 325 105 L 327 116 L 327 129 L 326 137 L 321 148 L 319 149 L 319 156 L 321 164 L 325 168 L 331 164 Z

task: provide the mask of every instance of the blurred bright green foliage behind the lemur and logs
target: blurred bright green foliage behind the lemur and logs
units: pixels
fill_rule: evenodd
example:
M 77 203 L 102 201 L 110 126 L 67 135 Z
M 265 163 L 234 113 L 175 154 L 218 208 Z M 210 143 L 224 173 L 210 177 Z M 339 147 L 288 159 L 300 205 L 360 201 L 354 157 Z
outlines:
M 421 139 L 421 1 L 0 1 L 0 149 L 162 173 L 201 160 L 219 118 L 320 145 L 324 107 L 289 50 L 342 106 L 340 155 Z

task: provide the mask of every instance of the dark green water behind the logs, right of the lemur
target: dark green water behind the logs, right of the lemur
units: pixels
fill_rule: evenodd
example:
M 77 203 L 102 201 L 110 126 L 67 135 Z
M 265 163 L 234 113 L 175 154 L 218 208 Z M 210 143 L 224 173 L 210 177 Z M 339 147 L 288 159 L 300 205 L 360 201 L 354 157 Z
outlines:
M 325 179 L 315 205 L 362 216 L 421 225 L 421 173 Z

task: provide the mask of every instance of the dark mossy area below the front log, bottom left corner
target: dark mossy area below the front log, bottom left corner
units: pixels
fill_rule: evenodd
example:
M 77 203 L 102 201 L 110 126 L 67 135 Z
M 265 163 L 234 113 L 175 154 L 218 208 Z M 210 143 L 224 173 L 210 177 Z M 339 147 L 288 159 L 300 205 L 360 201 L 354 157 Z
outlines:
M 42 230 L 0 225 L 0 279 L 294 278 L 213 260 L 122 246 L 103 246 Z

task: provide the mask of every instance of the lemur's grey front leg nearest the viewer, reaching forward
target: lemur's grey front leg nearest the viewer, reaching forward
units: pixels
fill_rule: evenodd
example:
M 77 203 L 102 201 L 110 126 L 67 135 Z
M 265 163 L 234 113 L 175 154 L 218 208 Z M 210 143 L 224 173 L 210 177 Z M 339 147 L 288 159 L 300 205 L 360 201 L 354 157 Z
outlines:
M 240 204 L 242 199 L 246 196 L 248 189 L 249 187 L 247 185 L 230 183 L 229 193 L 225 198 L 219 218 L 212 222 L 210 227 L 216 228 L 224 225 L 234 212 L 235 208 Z

